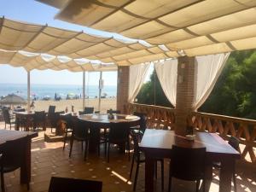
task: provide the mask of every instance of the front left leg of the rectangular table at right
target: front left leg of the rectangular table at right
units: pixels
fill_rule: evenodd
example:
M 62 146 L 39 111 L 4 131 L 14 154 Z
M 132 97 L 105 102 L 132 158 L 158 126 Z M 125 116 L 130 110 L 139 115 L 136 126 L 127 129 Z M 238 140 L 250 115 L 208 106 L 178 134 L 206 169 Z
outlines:
M 154 159 L 145 153 L 145 192 L 154 191 Z

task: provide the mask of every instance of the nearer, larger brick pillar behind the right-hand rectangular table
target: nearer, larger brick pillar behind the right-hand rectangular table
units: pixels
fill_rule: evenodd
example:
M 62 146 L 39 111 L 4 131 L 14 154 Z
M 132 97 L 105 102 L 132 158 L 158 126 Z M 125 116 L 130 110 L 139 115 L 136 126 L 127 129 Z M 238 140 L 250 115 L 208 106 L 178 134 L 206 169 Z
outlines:
M 187 128 L 187 117 L 193 111 L 195 99 L 197 67 L 195 57 L 183 56 L 178 58 L 177 64 L 177 99 L 175 131 L 184 135 Z

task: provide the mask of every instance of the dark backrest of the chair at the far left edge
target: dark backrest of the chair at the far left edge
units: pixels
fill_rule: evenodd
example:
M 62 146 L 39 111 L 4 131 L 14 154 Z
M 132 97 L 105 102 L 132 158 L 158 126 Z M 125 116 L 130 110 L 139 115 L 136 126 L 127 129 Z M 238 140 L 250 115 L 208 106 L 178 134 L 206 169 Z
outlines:
M 27 137 L 21 137 L 19 139 L 7 141 L 4 143 L 4 147 L 1 149 L 2 165 L 3 167 L 9 167 L 10 172 L 19 168 L 24 160 L 24 151 L 26 151 Z

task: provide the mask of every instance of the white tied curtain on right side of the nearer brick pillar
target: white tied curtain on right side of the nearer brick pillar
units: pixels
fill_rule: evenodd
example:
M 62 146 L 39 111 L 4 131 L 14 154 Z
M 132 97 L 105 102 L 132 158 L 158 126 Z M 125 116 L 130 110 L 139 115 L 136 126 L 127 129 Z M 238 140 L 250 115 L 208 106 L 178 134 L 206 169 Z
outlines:
M 207 100 L 230 53 L 196 56 L 197 82 L 193 108 L 196 110 Z

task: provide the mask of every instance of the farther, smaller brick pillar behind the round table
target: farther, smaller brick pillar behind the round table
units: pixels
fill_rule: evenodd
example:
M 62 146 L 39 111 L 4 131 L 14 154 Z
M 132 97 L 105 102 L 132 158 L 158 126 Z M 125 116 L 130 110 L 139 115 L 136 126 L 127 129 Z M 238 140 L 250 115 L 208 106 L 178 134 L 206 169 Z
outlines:
M 117 110 L 125 113 L 125 106 L 128 104 L 129 94 L 129 74 L 130 67 L 118 67 L 118 84 L 117 84 Z

